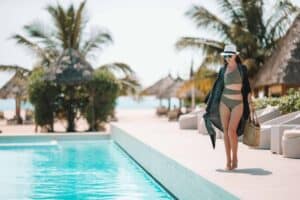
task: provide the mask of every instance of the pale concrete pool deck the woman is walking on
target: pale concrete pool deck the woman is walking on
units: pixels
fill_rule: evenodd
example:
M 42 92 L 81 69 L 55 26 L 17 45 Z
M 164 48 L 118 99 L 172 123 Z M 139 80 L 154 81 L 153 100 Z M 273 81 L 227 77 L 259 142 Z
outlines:
M 300 198 L 300 159 L 284 158 L 270 150 L 250 149 L 239 143 L 239 168 L 224 171 L 223 140 L 217 139 L 214 150 L 207 135 L 197 130 L 180 130 L 177 122 L 168 122 L 154 113 L 122 110 L 117 113 L 119 121 L 112 125 L 237 198 Z

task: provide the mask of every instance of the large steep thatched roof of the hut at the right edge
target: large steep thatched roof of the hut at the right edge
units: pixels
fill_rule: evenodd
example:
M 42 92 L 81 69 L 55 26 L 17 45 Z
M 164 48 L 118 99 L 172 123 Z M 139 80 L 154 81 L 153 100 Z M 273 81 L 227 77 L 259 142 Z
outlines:
M 300 15 L 254 78 L 255 93 L 280 96 L 300 86 Z

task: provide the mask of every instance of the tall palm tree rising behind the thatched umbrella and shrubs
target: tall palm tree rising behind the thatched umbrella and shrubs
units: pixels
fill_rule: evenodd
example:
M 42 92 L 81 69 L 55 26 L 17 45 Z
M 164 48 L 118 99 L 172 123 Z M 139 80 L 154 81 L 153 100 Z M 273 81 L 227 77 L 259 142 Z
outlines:
M 84 12 L 85 5 L 86 1 L 80 3 L 77 9 L 73 5 L 67 9 L 59 4 L 56 6 L 49 5 L 46 10 L 52 18 L 50 25 L 34 22 L 24 26 L 26 36 L 16 34 L 12 38 L 18 44 L 33 51 L 39 58 L 39 66 L 44 68 L 51 68 L 60 55 L 68 50 L 78 52 L 83 59 L 95 56 L 96 50 L 102 50 L 105 46 L 112 44 L 113 39 L 108 31 L 102 29 L 98 29 L 86 37 L 87 34 L 84 30 L 88 20 Z M 123 63 L 107 64 L 102 68 L 111 71 L 119 70 L 126 75 L 125 77 L 134 75 L 133 70 Z M 125 83 L 123 79 L 120 81 Z M 127 86 L 136 85 L 128 84 Z M 73 116 L 74 113 L 70 113 L 70 115 Z M 68 121 L 72 124 L 73 117 Z M 68 130 L 72 129 L 73 127 L 68 128 Z

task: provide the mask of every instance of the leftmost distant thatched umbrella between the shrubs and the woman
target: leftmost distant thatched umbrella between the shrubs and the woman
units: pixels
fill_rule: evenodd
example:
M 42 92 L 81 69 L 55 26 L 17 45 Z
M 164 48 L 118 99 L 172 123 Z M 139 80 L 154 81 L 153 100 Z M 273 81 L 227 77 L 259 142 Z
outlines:
M 161 94 L 173 83 L 174 79 L 169 74 L 168 76 L 158 80 L 153 85 L 143 90 L 142 95 L 155 95 L 160 100 L 161 106 L 161 100 L 164 99 Z M 168 109 L 170 109 L 170 98 L 168 98 Z

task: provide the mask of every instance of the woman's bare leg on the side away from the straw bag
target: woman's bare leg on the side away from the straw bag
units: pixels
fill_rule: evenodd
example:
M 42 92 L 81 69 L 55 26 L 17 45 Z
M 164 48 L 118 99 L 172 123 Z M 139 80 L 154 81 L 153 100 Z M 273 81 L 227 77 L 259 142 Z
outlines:
M 230 141 L 228 137 L 228 125 L 230 120 L 230 110 L 229 108 L 222 102 L 220 102 L 220 117 L 223 127 L 223 133 L 224 133 L 224 144 L 225 144 L 225 151 L 226 151 L 226 170 L 231 170 L 231 147 L 230 147 Z

